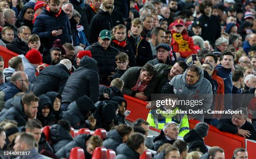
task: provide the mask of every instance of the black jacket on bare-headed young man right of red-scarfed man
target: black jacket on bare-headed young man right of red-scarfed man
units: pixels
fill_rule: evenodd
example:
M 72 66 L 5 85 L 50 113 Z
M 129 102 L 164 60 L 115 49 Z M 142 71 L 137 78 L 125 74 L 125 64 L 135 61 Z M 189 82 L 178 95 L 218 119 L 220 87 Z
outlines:
M 142 37 L 137 38 L 140 38 L 138 45 L 132 35 L 127 36 L 127 40 L 132 45 L 134 55 L 136 56 L 136 66 L 142 67 L 148 61 L 153 60 L 153 53 L 150 43 L 146 39 Z

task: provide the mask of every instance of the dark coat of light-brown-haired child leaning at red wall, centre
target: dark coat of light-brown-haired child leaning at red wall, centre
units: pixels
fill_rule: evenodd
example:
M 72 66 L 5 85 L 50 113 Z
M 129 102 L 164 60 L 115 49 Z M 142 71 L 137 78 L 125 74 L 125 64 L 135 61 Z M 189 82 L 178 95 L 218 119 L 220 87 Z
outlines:
M 123 97 L 122 91 L 120 91 L 117 87 L 111 86 L 107 87 L 104 85 L 100 85 L 100 94 L 103 96 L 104 93 L 107 93 L 109 96 L 109 100 L 113 97 Z M 104 97 L 100 97 L 101 100 L 104 100 Z

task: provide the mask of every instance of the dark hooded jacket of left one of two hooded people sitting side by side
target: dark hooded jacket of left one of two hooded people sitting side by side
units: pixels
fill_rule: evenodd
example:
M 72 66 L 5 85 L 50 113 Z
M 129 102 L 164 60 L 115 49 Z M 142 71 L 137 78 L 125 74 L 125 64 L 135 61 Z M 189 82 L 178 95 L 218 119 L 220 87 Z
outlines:
M 49 107 L 50 108 L 50 112 L 47 115 L 47 117 L 44 117 L 43 114 L 42 114 L 42 109 L 44 107 Z M 51 104 L 51 99 L 49 99 L 49 97 L 47 97 L 46 95 L 39 96 L 39 102 L 38 102 L 38 108 L 37 109 L 38 109 L 38 112 L 37 112 L 36 118 L 38 120 L 40 120 L 43 127 L 54 124 L 54 115 L 52 113 L 53 106 Z

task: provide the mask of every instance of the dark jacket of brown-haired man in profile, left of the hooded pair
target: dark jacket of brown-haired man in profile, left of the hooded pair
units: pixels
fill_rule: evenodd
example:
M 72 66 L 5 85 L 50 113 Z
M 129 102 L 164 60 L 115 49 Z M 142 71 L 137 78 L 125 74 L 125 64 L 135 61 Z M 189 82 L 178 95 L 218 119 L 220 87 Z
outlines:
M 24 109 L 23 109 L 23 104 L 20 100 L 20 102 L 15 103 L 13 107 L 8 109 L 8 111 L 5 112 L 0 117 L 0 122 L 3 122 L 6 119 L 14 120 L 18 123 L 18 127 L 26 126 L 28 117 L 26 116 Z

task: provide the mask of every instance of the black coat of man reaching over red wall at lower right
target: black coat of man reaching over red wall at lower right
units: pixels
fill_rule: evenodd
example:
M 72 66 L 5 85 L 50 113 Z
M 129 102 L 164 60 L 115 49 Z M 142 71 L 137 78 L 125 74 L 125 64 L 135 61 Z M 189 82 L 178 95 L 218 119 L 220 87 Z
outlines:
M 245 122 L 242 127 L 236 127 L 231 119 L 220 119 L 217 128 L 223 132 L 229 132 L 231 134 L 237 134 L 238 129 L 248 130 L 251 134 L 248 139 L 256 140 L 256 129 L 251 122 Z

